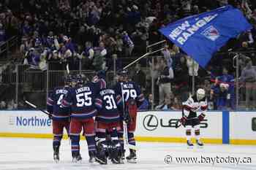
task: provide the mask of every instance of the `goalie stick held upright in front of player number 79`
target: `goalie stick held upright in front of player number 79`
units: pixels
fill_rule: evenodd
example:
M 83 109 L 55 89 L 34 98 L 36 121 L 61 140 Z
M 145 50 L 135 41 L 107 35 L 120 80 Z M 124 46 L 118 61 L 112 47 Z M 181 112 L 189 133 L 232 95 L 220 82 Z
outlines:
M 122 98 L 122 101 L 123 101 L 123 113 L 125 113 L 123 82 L 121 82 L 121 98 Z M 129 149 L 132 149 L 132 150 L 137 150 L 134 145 L 129 144 L 129 142 L 128 142 L 128 128 L 127 128 L 127 123 L 125 121 L 123 121 L 123 129 L 124 129 L 124 146 L 125 146 L 125 148 L 129 148 Z

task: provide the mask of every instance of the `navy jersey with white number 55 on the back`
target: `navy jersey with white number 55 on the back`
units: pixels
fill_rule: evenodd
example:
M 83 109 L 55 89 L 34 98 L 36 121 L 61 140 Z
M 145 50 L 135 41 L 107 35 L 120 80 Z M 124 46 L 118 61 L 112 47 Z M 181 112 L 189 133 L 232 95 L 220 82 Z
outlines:
M 94 106 L 95 92 L 91 83 L 82 87 L 76 87 L 69 90 L 62 99 L 63 107 L 71 107 L 71 117 L 79 119 L 88 119 L 94 117 L 97 109 Z

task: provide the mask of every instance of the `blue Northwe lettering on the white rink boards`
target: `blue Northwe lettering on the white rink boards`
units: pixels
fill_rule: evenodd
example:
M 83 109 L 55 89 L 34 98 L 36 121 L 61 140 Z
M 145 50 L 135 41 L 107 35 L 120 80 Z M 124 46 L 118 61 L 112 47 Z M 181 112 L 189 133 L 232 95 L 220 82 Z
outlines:
M 17 126 L 50 126 L 51 121 L 48 118 L 34 117 L 16 117 Z

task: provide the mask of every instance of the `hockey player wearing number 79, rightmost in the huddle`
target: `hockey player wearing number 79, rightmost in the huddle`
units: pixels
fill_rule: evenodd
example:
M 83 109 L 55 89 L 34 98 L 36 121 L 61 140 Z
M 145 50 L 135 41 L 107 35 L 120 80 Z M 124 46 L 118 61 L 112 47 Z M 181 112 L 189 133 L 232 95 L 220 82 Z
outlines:
M 124 105 L 127 112 L 121 113 L 121 131 L 118 133 L 118 138 L 124 148 L 124 140 L 123 140 L 123 120 L 127 123 L 128 129 L 128 142 L 131 145 L 135 146 L 135 138 L 134 132 L 136 128 L 136 117 L 137 117 L 137 108 L 140 104 L 142 104 L 144 100 L 143 93 L 140 93 L 140 88 L 135 82 L 128 80 L 128 72 L 126 70 L 122 71 L 119 75 L 120 79 L 117 82 L 115 90 L 118 98 L 122 98 L 124 96 Z M 122 152 L 122 159 L 124 160 L 124 149 Z M 129 156 L 127 156 L 127 161 L 130 163 L 136 163 L 137 157 L 136 152 L 133 149 L 129 149 Z

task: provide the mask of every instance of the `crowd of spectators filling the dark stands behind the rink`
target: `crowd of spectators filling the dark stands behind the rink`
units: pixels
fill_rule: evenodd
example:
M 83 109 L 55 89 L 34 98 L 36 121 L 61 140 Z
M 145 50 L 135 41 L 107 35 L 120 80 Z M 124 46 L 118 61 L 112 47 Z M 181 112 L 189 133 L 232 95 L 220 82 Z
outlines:
M 14 3 L 14 4 L 11 4 Z M 31 69 L 111 70 L 113 58 L 117 57 L 117 70 L 124 64 L 122 58 L 133 61 L 146 53 L 146 45 L 165 39 L 158 31 L 180 18 L 206 12 L 231 4 L 244 12 L 253 29 L 232 39 L 212 58 L 207 69 L 200 66 L 181 49 L 170 42 L 154 60 L 154 96 L 156 109 L 181 109 L 195 88 L 204 88 L 209 109 L 236 109 L 235 81 L 241 82 L 241 98 L 256 102 L 254 69 L 255 53 L 244 54 L 240 60 L 240 80 L 236 80 L 233 68 L 234 53 L 230 49 L 249 51 L 255 49 L 256 1 L 252 0 L 21 0 L 0 4 L 0 42 L 15 32 L 21 36 L 20 53 L 23 63 Z M 17 7 L 18 6 L 18 7 Z M 14 15 L 12 14 L 14 11 Z M 220 60 L 221 58 L 221 60 Z M 151 62 L 148 62 L 151 68 Z M 248 69 L 243 70 L 243 69 Z M 250 76 L 248 75 L 248 72 Z M 151 77 L 140 64 L 131 72 L 132 80 L 138 82 L 148 96 L 141 109 L 152 106 Z M 144 78 L 145 77 L 145 78 Z M 251 83 L 251 85 L 249 85 Z M 251 88 L 249 88 L 251 87 Z M 256 104 L 254 105 L 256 108 Z M 252 108 L 254 109 L 254 108 Z

